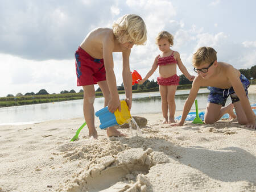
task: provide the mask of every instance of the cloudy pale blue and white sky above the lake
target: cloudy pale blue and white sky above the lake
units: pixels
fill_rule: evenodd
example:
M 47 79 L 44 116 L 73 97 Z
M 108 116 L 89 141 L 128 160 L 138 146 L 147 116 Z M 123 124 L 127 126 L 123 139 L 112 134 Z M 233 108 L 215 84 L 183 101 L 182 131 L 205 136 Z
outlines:
M 130 69 L 142 77 L 160 53 L 155 37 L 174 35 L 172 49 L 195 75 L 192 55 L 213 47 L 218 61 L 237 69 L 256 65 L 256 1 L 224 0 L 0 0 L 0 97 L 7 94 L 79 91 L 76 49 L 89 31 L 109 27 L 125 14 L 140 15 L 146 45 L 134 45 Z M 122 55 L 113 53 L 117 85 L 122 84 Z M 177 69 L 177 74 L 182 74 Z M 158 70 L 149 78 L 156 80 Z M 97 85 L 95 86 L 97 89 Z

